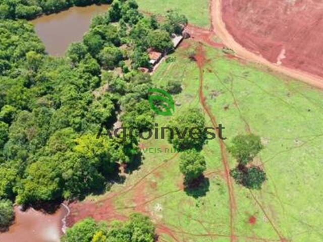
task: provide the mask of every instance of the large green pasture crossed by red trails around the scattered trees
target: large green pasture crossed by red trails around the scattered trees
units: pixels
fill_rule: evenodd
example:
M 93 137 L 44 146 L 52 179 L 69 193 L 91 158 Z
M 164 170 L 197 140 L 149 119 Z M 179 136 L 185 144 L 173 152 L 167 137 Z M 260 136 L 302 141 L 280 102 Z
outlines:
M 191 49 L 197 45 L 190 44 Z M 226 145 L 249 128 L 265 145 L 255 161 L 267 173 L 263 189 L 251 193 L 234 185 L 237 241 L 322 241 L 323 94 L 301 82 L 274 76 L 270 70 L 229 59 L 221 50 L 203 48 L 208 59 L 203 67 L 203 93 L 212 114 L 226 128 Z M 202 110 L 199 70 L 189 60 L 188 51 L 180 48 L 174 54 L 176 61 L 164 62 L 153 75 L 156 84 L 182 81 L 184 90 L 175 96 L 181 103 L 177 114 L 188 106 Z M 157 117 L 159 126 L 168 121 L 169 117 Z M 146 148 L 170 147 L 164 140 L 143 144 Z M 140 169 L 121 185 L 133 188 L 115 199 L 116 209 L 148 213 L 160 241 L 230 241 L 229 195 L 219 140 L 209 141 L 202 153 L 207 179 L 194 192 L 183 191 L 178 155 L 145 153 Z M 230 156 L 229 163 L 230 168 L 236 165 Z

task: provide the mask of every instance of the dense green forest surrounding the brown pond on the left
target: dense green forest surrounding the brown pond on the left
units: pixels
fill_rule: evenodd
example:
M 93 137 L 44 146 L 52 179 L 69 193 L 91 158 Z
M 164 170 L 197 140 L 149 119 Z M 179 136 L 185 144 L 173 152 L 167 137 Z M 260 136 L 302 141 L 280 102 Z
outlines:
M 117 163 L 140 157 L 135 136 L 97 134 L 117 119 L 138 132 L 153 126 L 147 101 L 153 84 L 138 68 L 149 68 L 148 48 L 172 51 L 171 35 L 187 19 L 170 11 L 158 22 L 140 14 L 133 0 L 114 1 L 64 57 L 48 55 L 33 26 L 18 19 L 89 3 L 96 1 L 1 1 L 2 202 L 35 206 L 83 199 L 109 187 Z

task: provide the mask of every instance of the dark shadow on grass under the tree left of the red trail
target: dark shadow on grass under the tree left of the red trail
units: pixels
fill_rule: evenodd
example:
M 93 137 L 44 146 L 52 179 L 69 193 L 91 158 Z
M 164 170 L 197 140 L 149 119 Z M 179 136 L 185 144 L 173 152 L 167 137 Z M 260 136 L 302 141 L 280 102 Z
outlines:
M 206 193 L 209 192 L 210 181 L 203 175 L 193 181 L 191 184 L 185 184 L 185 193 L 195 199 L 205 197 Z

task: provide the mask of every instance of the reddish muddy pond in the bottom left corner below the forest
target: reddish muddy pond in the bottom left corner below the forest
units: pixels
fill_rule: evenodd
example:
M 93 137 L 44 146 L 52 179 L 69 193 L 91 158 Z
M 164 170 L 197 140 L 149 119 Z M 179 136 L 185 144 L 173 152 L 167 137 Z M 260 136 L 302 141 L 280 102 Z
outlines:
M 62 219 L 68 213 L 61 207 L 55 214 L 43 214 L 33 209 L 21 212 L 15 208 L 15 223 L 9 231 L 0 233 L 1 242 L 59 242 Z

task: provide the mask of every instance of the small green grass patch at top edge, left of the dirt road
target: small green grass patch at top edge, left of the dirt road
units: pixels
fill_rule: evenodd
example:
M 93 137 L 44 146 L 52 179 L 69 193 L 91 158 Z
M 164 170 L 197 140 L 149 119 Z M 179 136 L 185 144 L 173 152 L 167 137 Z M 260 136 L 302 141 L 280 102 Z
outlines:
M 178 10 L 185 14 L 190 24 L 208 28 L 209 2 L 207 0 L 137 0 L 139 9 L 156 15 L 164 15 L 168 10 Z

